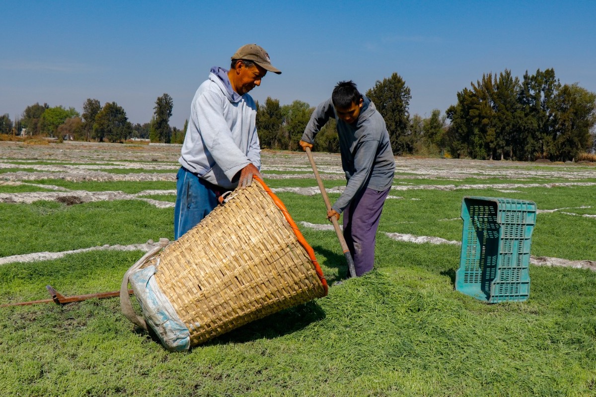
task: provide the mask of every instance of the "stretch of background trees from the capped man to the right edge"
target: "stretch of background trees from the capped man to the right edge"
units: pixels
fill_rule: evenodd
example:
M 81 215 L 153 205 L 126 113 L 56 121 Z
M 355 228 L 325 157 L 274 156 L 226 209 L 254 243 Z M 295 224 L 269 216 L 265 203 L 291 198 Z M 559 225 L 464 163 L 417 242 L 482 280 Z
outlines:
M 596 149 L 596 94 L 561 85 L 553 69 L 524 74 L 522 82 L 505 70 L 457 93 L 445 114 L 409 115 L 411 92 L 393 73 L 365 93 L 387 124 L 397 155 L 448 155 L 483 160 L 574 160 Z M 280 106 L 267 98 L 257 112 L 262 146 L 295 149 L 314 108 L 294 101 Z M 448 124 L 447 120 L 451 121 Z M 315 150 L 339 151 L 334 122 L 315 139 Z

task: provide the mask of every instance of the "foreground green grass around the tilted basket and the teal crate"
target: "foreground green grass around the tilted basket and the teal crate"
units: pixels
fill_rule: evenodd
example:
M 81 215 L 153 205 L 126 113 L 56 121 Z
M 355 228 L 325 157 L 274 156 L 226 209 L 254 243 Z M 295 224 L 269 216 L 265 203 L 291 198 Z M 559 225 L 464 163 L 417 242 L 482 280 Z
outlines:
M 170 354 L 131 332 L 117 299 L 3 309 L 0 386 L 6 395 L 44 396 L 594 392 L 595 273 L 532 267 L 528 302 L 489 306 L 453 291 L 454 262 L 436 261 L 452 257 L 453 247 L 433 252 L 381 240 L 373 274 L 189 354 Z M 140 255 L 89 252 L 4 265 L 0 278 L 10 282 L 0 292 L 44 298 L 48 279 L 66 294 L 117 289 Z

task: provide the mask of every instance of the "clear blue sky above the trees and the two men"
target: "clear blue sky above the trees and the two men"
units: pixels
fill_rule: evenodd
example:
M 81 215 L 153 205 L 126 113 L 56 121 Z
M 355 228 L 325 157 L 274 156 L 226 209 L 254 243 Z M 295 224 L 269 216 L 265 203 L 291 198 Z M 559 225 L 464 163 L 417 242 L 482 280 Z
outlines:
M 257 43 L 283 71 L 251 95 L 315 106 L 339 80 L 362 92 L 398 73 L 411 115 L 444 112 L 483 73 L 554 68 L 596 92 L 594 1 L 8 1 L 0 8 L 0 114 L 46 102 L 117 102 L 147 123 L 168 93 L 182 128 L 214 65 Z

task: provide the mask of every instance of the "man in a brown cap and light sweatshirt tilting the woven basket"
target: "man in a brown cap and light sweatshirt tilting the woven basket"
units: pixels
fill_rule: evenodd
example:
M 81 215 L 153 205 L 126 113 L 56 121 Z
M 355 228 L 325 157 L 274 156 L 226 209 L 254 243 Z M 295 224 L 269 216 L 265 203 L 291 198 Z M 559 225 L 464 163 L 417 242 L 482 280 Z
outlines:
M 229 70 L 213 67 L 194 95 L 176 176 L 174 238 L 218 205 L 218 196 L 259 176 L 256 105 L 248 94 L 267 71 L 281 74 L 256 44 L 241 46 Z

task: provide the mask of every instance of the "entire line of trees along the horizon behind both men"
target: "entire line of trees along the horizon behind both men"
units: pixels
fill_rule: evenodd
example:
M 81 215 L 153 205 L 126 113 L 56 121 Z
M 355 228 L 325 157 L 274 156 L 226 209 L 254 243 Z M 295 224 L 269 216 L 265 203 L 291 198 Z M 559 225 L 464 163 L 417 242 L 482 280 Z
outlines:
M 457 104 L 445 114 L 410 116 L 411 92 L 397 73 L 377 80 L 365 95 L 383 115 L 396 155 L 444 155 L 486 160 L 575 160 L 596 149 L 596 94 L 578 84 L 562 85 L 554 70 L 524 74 L 520 81 L 510 70 L 484 74 L 457 93 Z M 321 98 L 321 100 L 324 98 Z M 13 123 L 0 116 L 0 133 L 26 128 L 30 135 L 70 135 L 79 140 L 122 142 L 131 138 L 182 143 L 184 129 L 169 126 L 173 99 L 164 93 L 155 102 L 150 123 L 129 123 L 116 102 L 103 107 L 87 99 L 83 114 L 74 108 L 31 105 Z M 280 105 L 268 97 L 257 102 L 257 130 L 263 148 L 298 149 L 298 142 L 314 108 L 303 101 Z M 449 122 L 448 122 L 449 120 Z M 315 139 L 315 150 L 339 152 L 335 121 L 330 120 Z

